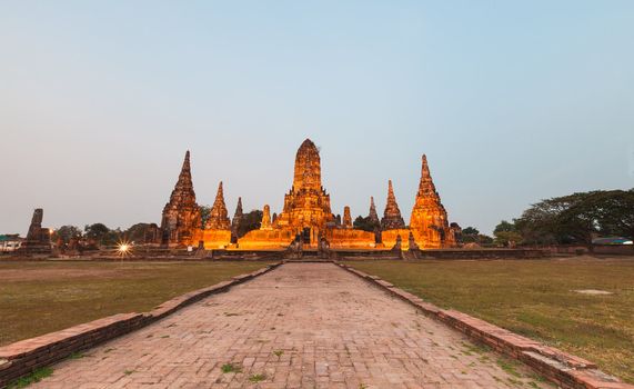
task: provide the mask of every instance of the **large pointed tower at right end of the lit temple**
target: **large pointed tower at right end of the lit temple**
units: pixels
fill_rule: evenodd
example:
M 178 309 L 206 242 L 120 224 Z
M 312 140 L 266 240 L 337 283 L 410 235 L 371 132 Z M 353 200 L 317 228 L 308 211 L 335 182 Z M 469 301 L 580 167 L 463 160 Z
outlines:
M 441 248 L 455 245 L 454 233 L 450 228 L 446 210 L 432 180 L 425 154 L 423 154 L 421 182 L 412 209 L 410 229 L 422 248 Z

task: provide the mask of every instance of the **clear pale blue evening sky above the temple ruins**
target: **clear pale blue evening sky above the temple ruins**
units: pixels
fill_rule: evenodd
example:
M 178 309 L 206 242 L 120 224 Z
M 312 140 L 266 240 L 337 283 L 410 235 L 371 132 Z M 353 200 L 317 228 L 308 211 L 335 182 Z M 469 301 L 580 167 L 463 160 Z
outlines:
M 450 221 L 634 187 L 634 1 L 0 1 L 0 233 L 280 212 L 321 149 L 334 213 L 405 221 L 421 156 Z

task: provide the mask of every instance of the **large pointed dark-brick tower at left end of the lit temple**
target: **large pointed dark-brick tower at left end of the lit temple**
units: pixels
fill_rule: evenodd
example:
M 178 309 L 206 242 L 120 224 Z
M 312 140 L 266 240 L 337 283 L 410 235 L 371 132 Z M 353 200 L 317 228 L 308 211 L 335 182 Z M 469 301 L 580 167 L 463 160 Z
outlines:
M 200 208 L 195 202 L 195 192 L 191 179 L 190 152 L 188 150 L 179 180 L 170 196 L 170 202 L 163 208 L 161 242 L 168 246 L 192 245 L 194 233 L 201 227 Z

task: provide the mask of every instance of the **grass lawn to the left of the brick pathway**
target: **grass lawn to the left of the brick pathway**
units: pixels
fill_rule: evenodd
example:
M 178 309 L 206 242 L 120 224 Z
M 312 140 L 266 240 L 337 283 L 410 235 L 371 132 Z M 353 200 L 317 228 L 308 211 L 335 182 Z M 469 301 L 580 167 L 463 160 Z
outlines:
M 0 262 L 0 346 L 151 310 L 268 262 Z

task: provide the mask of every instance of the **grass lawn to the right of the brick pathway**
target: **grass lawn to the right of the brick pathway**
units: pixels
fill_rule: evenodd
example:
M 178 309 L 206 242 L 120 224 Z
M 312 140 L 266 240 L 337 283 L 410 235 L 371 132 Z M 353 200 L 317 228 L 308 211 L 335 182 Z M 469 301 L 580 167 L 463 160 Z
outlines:
M 634 258 L 351 261 L 453 308 L 596 362 L 634 383 Z M 597 289 L 613 295 L 582 295 Z

